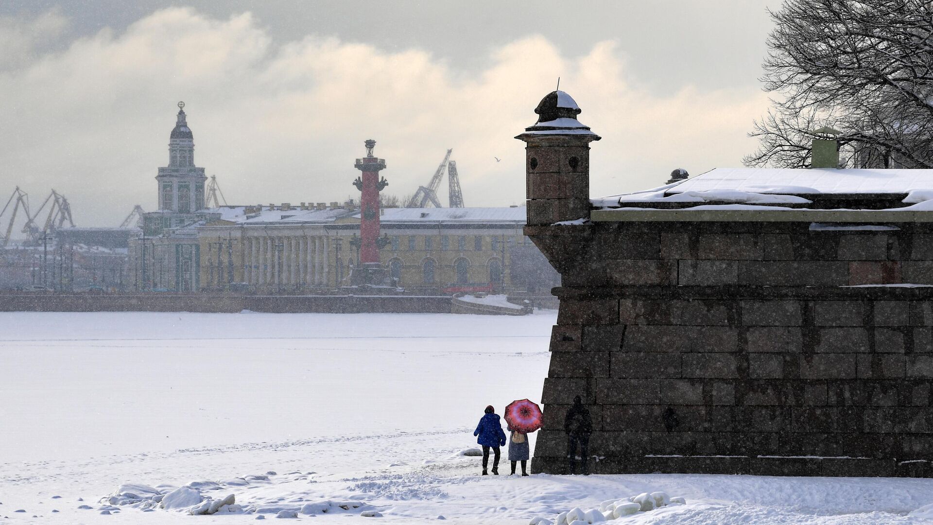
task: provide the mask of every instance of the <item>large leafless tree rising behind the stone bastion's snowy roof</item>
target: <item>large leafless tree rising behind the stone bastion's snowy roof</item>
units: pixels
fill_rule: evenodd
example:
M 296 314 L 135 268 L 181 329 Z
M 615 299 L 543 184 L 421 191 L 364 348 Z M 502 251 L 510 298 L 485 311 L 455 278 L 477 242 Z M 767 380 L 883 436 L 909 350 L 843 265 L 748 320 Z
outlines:
M 785 0 L 771 16 L 764 89 L 773 109 L 746 165 L 805 167 L 815 129 L 841 163 L 933 167 L 933 12 L 926 0 Z

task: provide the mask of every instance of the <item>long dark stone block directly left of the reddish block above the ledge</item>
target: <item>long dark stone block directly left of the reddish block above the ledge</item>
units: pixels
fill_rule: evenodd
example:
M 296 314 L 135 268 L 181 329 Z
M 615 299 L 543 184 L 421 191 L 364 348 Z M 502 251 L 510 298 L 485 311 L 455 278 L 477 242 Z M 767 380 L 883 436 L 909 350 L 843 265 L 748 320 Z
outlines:
M 749 286 L 842 286 L 847 262 L 740 261 L 739 284 Z

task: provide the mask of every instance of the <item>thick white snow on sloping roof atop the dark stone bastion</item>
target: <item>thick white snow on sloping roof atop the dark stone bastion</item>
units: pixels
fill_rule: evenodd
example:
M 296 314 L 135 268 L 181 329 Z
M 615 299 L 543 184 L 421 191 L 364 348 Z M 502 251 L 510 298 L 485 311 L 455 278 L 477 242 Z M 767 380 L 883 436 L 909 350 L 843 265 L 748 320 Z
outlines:
M 738 190 L 750 193 L 858 194 L 933 190 L 933 169 L 716 168 L 667 193 Z

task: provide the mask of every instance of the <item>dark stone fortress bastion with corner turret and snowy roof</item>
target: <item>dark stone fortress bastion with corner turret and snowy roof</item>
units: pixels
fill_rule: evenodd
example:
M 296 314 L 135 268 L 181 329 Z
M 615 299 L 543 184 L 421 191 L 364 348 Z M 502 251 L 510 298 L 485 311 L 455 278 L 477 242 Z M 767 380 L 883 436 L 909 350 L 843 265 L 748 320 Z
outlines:
M 566 93 L 536 112 L 524 232 L 563 283 L 533 471 L 573 468 L 580 396 L 591 472 L 933 475 L 933 170 L 716 169 L 590 200 L 598 137 Z

